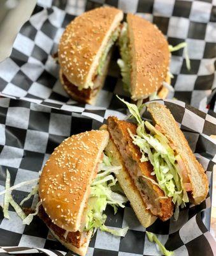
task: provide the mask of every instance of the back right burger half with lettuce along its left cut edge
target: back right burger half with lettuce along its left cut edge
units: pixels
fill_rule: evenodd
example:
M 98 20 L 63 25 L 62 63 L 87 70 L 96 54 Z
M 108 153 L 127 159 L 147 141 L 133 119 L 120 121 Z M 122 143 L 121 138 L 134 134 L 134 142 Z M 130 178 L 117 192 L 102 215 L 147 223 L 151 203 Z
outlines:
M 169 45 L 154 24 L 127 14 L 119 38 L 121 59 L 117 61 L 125 90 L 134 101 L 166 98 L 171 88 Z

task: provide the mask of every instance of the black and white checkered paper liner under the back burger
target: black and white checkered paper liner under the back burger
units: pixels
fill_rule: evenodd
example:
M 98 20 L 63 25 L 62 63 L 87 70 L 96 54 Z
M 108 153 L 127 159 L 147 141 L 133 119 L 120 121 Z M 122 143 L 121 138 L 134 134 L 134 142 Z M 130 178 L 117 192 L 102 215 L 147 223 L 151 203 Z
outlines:
M 41 7 L 44 4 L 46 6 Z M 186 68 L 183 50 L 173 52 L 171 58 L 174 97 L 199 108 L 201 100 L 216 86 L 215 0 L 87 0 L 86 4 L 84 0 L 53 3 L 40 0 L 29 21 L 20 29 L 10 58 L 0 63 L 1 95 L 70 111 L 85 108 L 64 92 L 58 79 L 59 67 L 51 54 L 57 51 L 62 31 L 75 15 L 103 4 L 138 13 L 154 22 L 167 35 L 169 44 L 187 42 L 191 71 Z M 117 109 L 115 94 L 124 95 L 117 58 L 116 51 L 96 102 L 97 109 Z

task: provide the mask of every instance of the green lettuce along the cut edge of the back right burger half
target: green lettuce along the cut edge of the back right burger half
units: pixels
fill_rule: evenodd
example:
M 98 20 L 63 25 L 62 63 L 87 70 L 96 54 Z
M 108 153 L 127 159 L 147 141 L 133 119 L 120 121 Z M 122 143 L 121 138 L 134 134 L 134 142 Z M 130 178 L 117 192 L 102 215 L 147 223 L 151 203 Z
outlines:
M 117 60 L 120 67 L 124 90 L 131 90 L 131 56 L 129 51 L 129 38 L 127 36 L 127 23 L 124 22 L 119 37 L 121 59 Z

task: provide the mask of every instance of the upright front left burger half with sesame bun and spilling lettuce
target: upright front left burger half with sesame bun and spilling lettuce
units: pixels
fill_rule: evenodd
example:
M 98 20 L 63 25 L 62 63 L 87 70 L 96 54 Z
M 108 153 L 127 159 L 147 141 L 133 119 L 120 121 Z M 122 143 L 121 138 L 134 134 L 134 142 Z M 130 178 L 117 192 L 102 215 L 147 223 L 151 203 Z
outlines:
M 126 197 L 114 192 L 120 166 L 104 155 L 107 131 L 89 131 L 64 140 L 47 160 L 39 181 L 38 216 L 69 250 L 85 255 L 97 228 L 125 236 L 127 228 L 106 227 L 106 205 L 124 207 Z

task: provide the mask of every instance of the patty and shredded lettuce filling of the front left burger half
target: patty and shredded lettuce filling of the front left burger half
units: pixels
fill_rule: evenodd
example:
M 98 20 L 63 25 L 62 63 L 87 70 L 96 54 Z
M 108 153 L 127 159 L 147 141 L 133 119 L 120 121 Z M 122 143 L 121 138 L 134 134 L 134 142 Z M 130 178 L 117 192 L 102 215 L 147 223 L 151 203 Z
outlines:
M 104 210 L 107 205 L 111 205 L 114 213 L 117 212 L 118 207 L 124 208 L 124 203 L 127 202 L 126 196 L 122 193 L 114 192 L 117 190 L 117 179 L 113 177 L 112 173 L 118 173 L 121 166 L 112 166 L 109 157 L 103 154 L 103 161 L 97 166 L 97 174 L 90 186 L 90 196 L 87 206 L 83 211 L 83 230 L 76 232 L 68 232 L 64 228 L 58 227 L 52 221 L 43 206 L 40 206 L 38 215 L 45 221 L 48 227 L 66 243 L 72 243 L 77 248 L 80 248 L 87 241 L 87 234 L 89 232 L 96 232 L 97 228 L 102 231 L 110 232 L 115 236 L 125 236 L 128 228 L 112 229 L 104 225 L 106 221 L 106 214 Z

